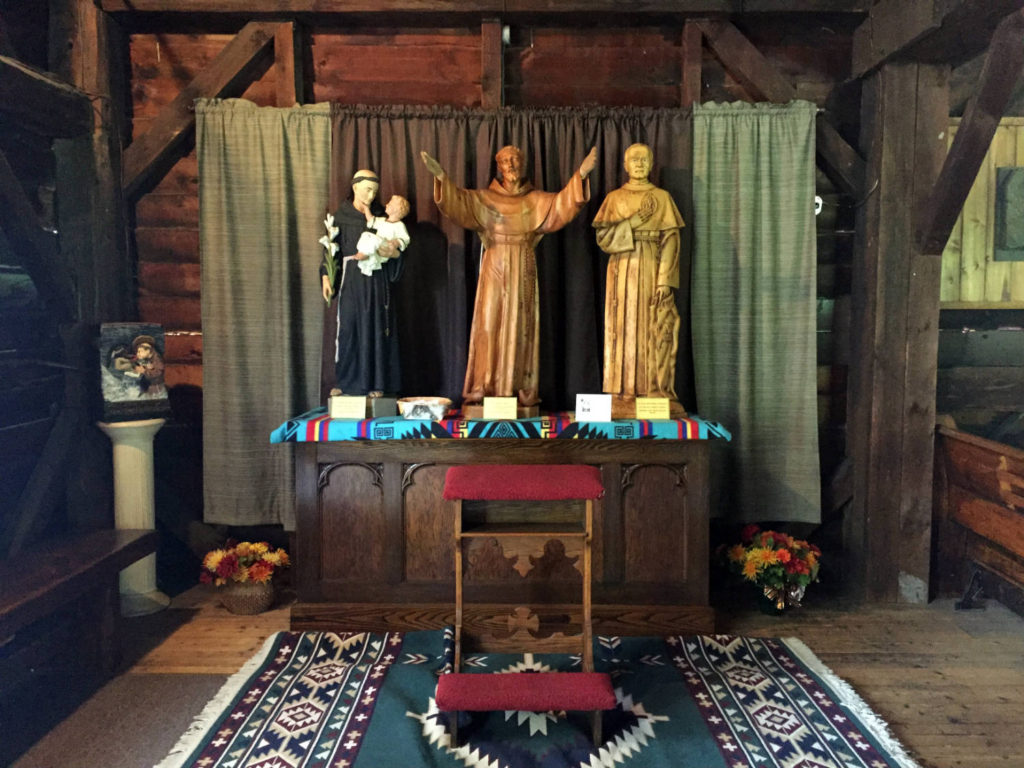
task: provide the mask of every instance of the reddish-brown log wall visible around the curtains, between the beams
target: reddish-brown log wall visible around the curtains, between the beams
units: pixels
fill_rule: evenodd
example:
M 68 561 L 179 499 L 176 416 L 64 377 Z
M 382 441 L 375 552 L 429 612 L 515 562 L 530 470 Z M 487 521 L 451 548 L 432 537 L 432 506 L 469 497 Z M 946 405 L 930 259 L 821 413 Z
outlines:
M 849 76 L 858 14 L 764 14 L 733 19 L 737 29 L 777 68 L 800 98 L 822 108 Z M 486 33 L 467 27 L 311 27 L 308 45 L 313 101 L 366 104 L 485 105 L 481 58 Z M 132 133 L 148 128 L 230 40 L 227 34 L 136 32 L 130 35 Z M 501 100 L 508 106 L 679 106 L 684 90 L 681 23 L 623 26 L 622 19 L 589 27 L 510 24 L 501 55 Z M 754 100 L 705 46 L 702 100 Z M 275 103 L 271 68 L 243 94 Z M 490 105 L 490 104 L 488 104 Z M 849 126 L 848 126 L 849 127 Z M 855 132 L 855 126 L 852 131 Z M 822 469 L 827 474 L 845 451 L 846 366 L 853 202 L 828 176 L 818 174 L 819 217 L 819 421 Z M 135 209 L 138 311 L 167 332 L 167 381 L 179 420 L 201 419 L 202 325 L 199 286 L 198 173 L 195 151 L 143 195 Z M 172 432 L 173 430 L 171 430 Z M 195 441 L 194 431 L 187 439 Z M 170 432 L 163 435 L 170 440 Z M 172 453 L 174 453 L 172 451 Z M 184 461 L 184 460 L 183 460 Z M 198 458 L 196 459 L 198 462 Z M 180 471 L 178 466 L 176 471 Z M 196 464 L 194 471 L 200 472 Z

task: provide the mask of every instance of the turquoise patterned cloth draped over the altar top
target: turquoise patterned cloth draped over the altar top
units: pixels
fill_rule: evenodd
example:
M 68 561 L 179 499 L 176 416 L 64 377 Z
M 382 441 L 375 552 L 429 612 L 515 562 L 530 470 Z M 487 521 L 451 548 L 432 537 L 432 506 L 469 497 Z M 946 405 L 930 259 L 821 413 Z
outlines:
M 557 438 L 597 440 L 708 440 L 731 439 L 721 424 L 697 416 L 685 419 L 621 419 L 575 422 L 571 413 L 535 419 L 484 421 L 454 415 L 441 421 L 388 416 L 379 419 L 332 419 L 317 408 L 289 419 L 270 433 L 270 442 L 329 442 L 335 440 L 418 440 L 431 438 Z

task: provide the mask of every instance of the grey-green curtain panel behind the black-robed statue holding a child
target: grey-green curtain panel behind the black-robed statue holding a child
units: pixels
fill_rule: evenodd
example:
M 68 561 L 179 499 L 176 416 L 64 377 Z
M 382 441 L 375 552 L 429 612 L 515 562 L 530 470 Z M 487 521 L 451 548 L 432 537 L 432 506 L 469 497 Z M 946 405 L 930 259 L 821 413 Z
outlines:
M 295 527 L 292 450 L 271 430 L 316 400 L 329 104 L 196 104 L 208 522 Z

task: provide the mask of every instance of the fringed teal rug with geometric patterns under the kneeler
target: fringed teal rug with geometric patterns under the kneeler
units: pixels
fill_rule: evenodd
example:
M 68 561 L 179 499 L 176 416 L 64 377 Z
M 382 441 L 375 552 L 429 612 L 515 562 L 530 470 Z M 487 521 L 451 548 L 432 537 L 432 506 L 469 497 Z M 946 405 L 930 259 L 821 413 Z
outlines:
M 586 713 L 449 715 L 434 705 L 450 632 L 282 632 L 211 701 L 158 768 L 916 768 L 800 641 L 600 637 L 617 708 L 604 743 Z M 480 654 L 464 671 L 579 669 L 564 654 Z

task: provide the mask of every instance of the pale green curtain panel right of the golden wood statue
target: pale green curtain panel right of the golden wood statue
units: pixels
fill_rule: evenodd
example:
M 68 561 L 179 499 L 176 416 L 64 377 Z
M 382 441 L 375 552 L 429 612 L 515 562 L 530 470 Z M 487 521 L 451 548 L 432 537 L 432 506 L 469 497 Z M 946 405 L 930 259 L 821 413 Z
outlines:
M 732 431 L 717 508 L 820 521 L 814 104 L 693 109 L 698 412 Z

